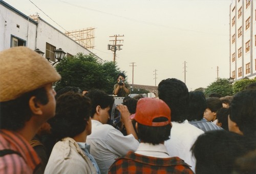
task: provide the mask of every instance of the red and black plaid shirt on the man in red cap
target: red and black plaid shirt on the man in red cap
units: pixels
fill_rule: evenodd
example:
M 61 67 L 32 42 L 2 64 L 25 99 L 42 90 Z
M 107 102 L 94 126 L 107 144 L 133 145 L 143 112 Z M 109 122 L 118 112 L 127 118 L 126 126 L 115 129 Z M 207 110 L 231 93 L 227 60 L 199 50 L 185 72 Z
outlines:
M 194 173 L 179 157 L 156 158 L 129 151 L 116 159 L 109 173 Z

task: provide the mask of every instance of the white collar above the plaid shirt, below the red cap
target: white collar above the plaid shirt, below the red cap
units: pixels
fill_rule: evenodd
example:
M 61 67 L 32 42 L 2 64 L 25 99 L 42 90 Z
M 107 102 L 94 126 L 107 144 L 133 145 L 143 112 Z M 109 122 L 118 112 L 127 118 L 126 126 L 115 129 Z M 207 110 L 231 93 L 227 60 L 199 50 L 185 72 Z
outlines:
M 156 158 L 170 158 L 164 144 L 140 143 L 135 153 Z

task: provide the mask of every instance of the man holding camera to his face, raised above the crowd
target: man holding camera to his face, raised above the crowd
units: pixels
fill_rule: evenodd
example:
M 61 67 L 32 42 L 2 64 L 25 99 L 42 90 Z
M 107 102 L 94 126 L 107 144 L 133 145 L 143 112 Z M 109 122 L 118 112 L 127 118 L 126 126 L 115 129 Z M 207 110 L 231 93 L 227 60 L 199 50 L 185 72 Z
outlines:
M 130 86 L 124 83 L 125 75 L 123 73 L 118 74 L 117 83 L 114 85 L 113 94 L 117 97 L 126 97 L 130 94 Z

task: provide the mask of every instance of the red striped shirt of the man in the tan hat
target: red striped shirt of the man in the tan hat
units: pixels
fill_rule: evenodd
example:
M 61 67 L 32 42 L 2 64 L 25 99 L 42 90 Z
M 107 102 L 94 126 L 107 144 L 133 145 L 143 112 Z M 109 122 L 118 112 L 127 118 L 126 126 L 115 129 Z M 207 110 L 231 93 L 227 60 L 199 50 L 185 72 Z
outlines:
M 0 157 L 0 173 L 33 173 L 40 163 L 35 150 L 29 142 L 17 133 L 0 129 L 0 150 L 11 149 L 17 154 Z

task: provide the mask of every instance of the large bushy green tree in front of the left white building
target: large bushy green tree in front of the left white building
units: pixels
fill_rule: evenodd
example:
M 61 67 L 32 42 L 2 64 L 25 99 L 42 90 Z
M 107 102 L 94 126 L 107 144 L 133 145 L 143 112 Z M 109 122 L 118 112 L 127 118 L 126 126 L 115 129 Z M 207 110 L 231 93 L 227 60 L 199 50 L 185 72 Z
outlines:
M 112 94 L 120 73 L 114 62 L 101 63 L 92 54 L 82 53 L 65 57 L 57 64 L 56 70 L 61 75 L 61 80 L 55 84 L 56 91 L 65 86 L 76 86 L 81 90 L 99 89 L 108 94 Z

